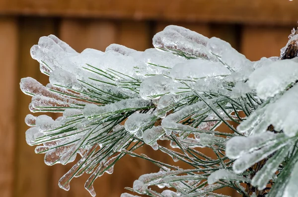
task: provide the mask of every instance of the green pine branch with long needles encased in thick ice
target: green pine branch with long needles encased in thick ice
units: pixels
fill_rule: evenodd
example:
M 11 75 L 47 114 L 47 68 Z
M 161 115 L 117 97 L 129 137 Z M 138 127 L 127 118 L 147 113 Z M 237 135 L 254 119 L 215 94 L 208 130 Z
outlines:
M 95 179 L 113 173 L 128 154 L 160 171 L 140 176 L 127 188 L 135 194 L 121 197 L 224 197 L 214 193 L 223 187 L 243 197 L 298 197 L 297 33 L 280 57 L 257 62 L 219 38 L 178 26 L 157 33 L 155 49 L 144 52 L 112 44 L 105 52 L 77 53 L 53 35 L 41 37 L 31 56 L 50 83 L 27 77 L 20 87 L 32 96 L 31 112 L 63 116 L 27 115 L 26 141 L 38 145 L 35 152 L 45 154 L 47 165 L 65 165 L 78 155 L 59 186 L 69 190 L 74 177 L 87 173 L 92 196 Z M 221 124 L 232 132 L 217 131 Z M 137 154 L 144 144 L 189 169 Z M 171 190 L 158 193 L 151 186 Z

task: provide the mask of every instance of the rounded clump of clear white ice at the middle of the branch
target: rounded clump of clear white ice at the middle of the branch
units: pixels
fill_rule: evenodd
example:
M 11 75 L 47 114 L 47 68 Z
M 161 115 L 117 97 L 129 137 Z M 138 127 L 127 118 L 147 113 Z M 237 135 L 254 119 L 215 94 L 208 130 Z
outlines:
M 172 79 L 163 75 L 150 76 L 141 83 L 140 96 L 145 100 L 160 98 L 169 93 L 171 88 Z

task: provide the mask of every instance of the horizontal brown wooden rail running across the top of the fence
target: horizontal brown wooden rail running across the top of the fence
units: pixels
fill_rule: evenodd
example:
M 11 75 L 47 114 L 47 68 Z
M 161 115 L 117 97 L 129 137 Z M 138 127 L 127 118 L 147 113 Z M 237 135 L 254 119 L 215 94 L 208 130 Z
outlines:
M 296 24 L 297 0 L 0 0 L 1 14 Z

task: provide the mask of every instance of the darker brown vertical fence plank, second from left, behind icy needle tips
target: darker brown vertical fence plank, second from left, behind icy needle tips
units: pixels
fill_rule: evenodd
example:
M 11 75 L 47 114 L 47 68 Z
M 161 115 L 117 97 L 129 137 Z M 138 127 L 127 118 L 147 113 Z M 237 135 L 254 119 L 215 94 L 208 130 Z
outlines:
M 19 21 L 19 56 L 17 81 L 22 77 L 33 77 L 42 84 L 48 83 L 48 77 L 39 71 L 39 63 L 30 56 L 30 48 L 38 43 L 41 36 L 55 34 L 53 19 L 21 18 Z M 44 154 L 37 155 L 33 146 L 25 141 L 25 131 L 29 128 L 24 118 L 30 113 L 28 105 L 31 97 L 23 94 L 17 87 L 17 137 L 16 137 L 16 177 L 15 196 L 49 197 L 49 166 L 44 163 Z M 38 116 L 40 114 L 34 114 Z

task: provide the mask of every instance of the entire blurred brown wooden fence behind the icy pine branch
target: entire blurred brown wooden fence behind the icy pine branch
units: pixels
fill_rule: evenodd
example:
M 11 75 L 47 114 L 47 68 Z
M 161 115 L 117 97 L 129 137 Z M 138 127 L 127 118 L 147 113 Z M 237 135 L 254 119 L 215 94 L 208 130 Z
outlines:
M 29 54 L 39 37 L 55 34 L 78 52 L 111 43 L 145 50 L 156 32 L 177 24 L 222 38 L 255 61 L 279 56 L 297 20 L 298 0 L 0 0 L 0 197 L 89 197 L 86 176 L 74 179 L 69 192 L 59 189 L 70 166 L 46 166 L 25 142 L 31 97 L 19 90 L 20 78 L 48 83 Z M 140 175 L 157 170 L 127 156 L 95 182 L 97 196 L 120 197 Z

